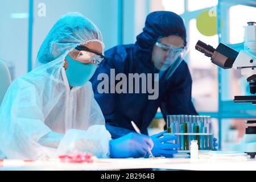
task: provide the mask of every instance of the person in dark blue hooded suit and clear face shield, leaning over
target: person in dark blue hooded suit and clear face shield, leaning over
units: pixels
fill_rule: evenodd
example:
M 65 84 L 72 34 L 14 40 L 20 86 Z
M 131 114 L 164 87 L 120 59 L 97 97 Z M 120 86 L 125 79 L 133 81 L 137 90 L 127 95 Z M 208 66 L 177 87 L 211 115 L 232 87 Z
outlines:
M 135 44 L 115 46 L 105 52 L 106 59 L 90 81 L 112 138 L 134 132 L 131 121 L 147 135 L 159 107 L 164 119 L 168 114 L 197 115 L 191 101 L 192 78 L 183 60 L 186 47 L 183 19 L 170 11 L 155 11 L 148 14 Z M 137 81 L 130 79 L 138 75 Z M 163 134 L 151 137 L 154 156 L 168 157 L 177 152 L 177 144 L 163 143 L 174 138 Z

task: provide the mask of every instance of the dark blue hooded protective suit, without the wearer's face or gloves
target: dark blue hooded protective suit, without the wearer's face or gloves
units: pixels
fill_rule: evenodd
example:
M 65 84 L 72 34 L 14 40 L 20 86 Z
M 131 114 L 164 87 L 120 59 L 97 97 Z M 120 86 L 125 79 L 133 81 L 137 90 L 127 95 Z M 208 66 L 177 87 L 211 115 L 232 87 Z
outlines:
M 131 121 L 136 123 L 142 134 L 147 134 L 147 127 L 158 107 L 164 119 L 167 114 L 197 114 L 191 101 L 192 78 L 184 60 L 168 80 L 164 75 L 160 78 L 156 100 L 148 100 L 148 93 L 98 93 L 97 86 L 101 81 L 97 77 L 100 73 L 110 77 L 110 69 L 115 69 L 115 75 L 125 73 L 127 77 L 128 73 L 158 73 L 151 61 L 152 48 L 159 37 L 170 35 L 180 36 L 187 44 L 180 16 L 170 11 L 156 11 L 147 16 L 143 32 L 137 36 L 135 44 L 115 46 L 105 52 L 106 59 L 90 81 L 112 138 L 134 131 Z

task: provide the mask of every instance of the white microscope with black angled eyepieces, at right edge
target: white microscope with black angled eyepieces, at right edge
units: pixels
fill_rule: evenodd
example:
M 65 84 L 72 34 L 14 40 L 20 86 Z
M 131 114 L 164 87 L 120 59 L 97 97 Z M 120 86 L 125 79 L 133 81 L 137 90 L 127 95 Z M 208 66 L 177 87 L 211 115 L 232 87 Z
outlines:
M 256 24 L 248 22 L 245 26 L 245 42 L 243 50 L 236 50 L 220 43 L 215 49 L 200 40 L 196 44 L 196 50 L 210 57 L 213 64 L 218 65 L 223 69 L 235 68 L 241 70 L 241 75 L 246 77 L 249 82 L 250 93 L 256 93 Z M 256 96 L 235 96 L 235 103 L 250 102 L 256 104 Z M 247 125 L 256 123 L 256 121 L 246 121 Z M 243 136 L 240 144 L 242 151 L 255 158 L 256 155 L 256 126 L 246 128 L 246 133 Z

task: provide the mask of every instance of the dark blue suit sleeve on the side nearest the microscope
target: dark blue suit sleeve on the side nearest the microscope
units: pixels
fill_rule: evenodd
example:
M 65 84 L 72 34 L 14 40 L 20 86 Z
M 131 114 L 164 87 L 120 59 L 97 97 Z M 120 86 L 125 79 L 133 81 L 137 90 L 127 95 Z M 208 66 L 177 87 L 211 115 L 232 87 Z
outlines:
M 160 105 L 163 117 L 166 115 L 198 115 L 192 103 L 192 78 L 187 63 L 183 61 L 171 77 L 171 84 Z

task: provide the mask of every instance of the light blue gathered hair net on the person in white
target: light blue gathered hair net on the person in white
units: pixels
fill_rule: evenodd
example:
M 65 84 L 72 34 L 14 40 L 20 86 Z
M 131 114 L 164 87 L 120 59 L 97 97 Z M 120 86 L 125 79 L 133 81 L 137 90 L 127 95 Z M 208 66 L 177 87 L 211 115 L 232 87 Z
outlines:
M 68 13 L 55 23 L 44 39 L 38 52 L 35 68 L 56 60 L 65 51 L 72 51 L 76 46 L 88 42 L 100 42 L 104 49 L 100 30 L 81 14 Z

